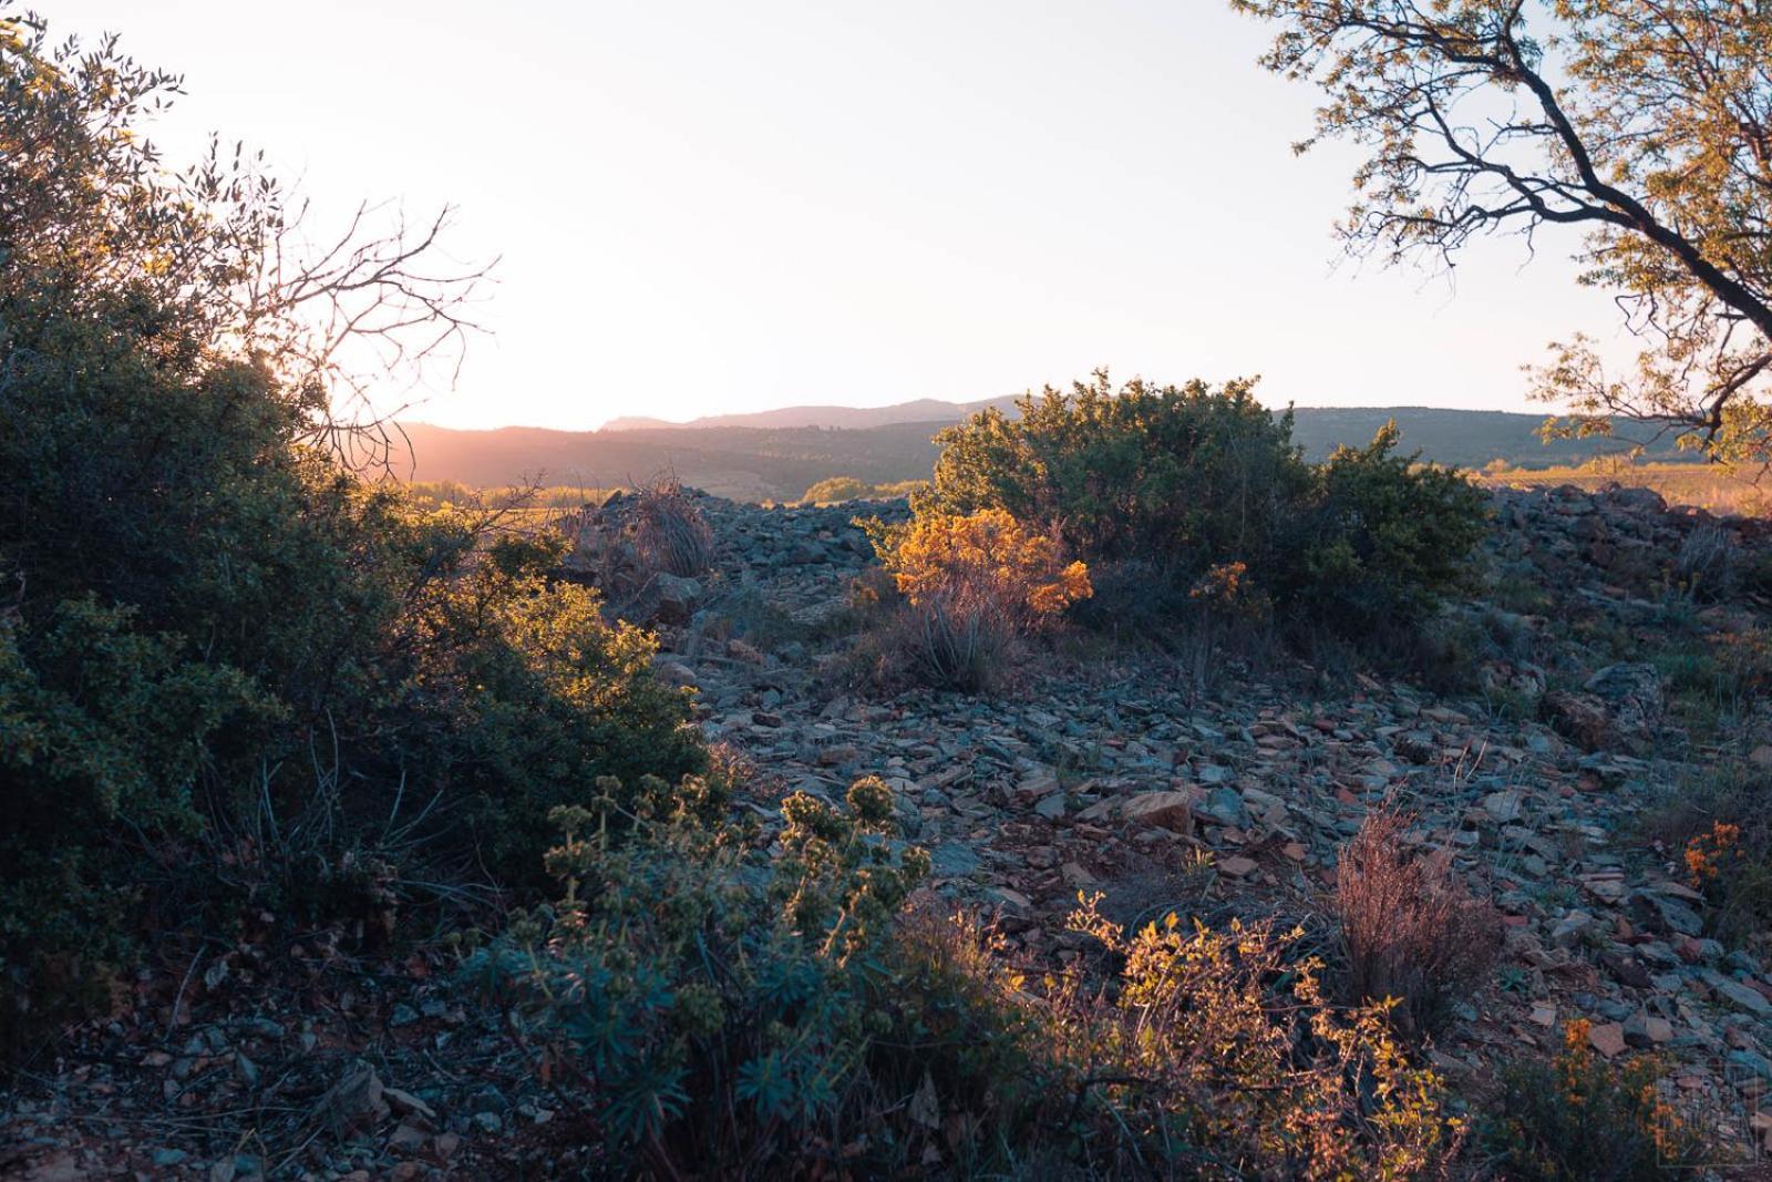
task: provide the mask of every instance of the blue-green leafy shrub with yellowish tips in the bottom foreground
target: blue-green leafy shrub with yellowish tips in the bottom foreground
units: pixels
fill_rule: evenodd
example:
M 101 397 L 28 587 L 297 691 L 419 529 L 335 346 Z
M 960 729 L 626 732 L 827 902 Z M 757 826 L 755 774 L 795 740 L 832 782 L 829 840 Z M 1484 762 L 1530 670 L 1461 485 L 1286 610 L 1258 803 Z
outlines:
M 895 854 L 893 799 L 783 803 L 780 856 L 686 810 L 627 813 L 604 782 L 555 813 L 558 909 L 519 918 L 466 973 L 521 1015 L 537 1067 L 583 1086 L 608 1173 L 727 1175 L 806 1161 L 852 1116 L 891 916 L 927 872 Z

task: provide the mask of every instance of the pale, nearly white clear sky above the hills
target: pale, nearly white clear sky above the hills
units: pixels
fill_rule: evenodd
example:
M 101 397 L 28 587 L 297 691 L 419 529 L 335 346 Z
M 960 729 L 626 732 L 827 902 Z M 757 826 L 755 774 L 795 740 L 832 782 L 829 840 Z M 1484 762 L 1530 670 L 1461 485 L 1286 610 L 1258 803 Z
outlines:
M 299 12 L 299 18 L 294 14 Z M 1616 337 L 1577 243 L 1453 276 L 1350 262 L 1352 149 L 1223 0 L 57 0 L 213 129 L 361 198 L 459 206 L 491 331 L 406 416 L 587 429 L 971 400 L 1108 367 L 1262 374 L 1279 406 L 1527 404 L 1552 338 Z M 395 397 L 388 392 L 383 397 Z

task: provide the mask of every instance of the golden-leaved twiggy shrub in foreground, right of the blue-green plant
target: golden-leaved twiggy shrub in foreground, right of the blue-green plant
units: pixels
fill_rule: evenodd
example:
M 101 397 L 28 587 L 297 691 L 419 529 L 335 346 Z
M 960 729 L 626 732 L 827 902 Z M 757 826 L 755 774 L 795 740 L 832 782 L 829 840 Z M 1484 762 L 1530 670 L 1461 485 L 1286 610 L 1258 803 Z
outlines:
M 1045 1038 L 1118 1131 L 1092 1163 L 1106 1175 L 1155 1159 L 1162 1177 L 1418 1178 L 1457 1152 L 1439 1076 L 1411 1063 L 1386 1007 L 1329 1003 L 1322 962 L 1294 955 L 1302 929 L 1171 913 L 1127 936 L 1097 902 L 1070 927 L 1118 980 L 1060 991 Z

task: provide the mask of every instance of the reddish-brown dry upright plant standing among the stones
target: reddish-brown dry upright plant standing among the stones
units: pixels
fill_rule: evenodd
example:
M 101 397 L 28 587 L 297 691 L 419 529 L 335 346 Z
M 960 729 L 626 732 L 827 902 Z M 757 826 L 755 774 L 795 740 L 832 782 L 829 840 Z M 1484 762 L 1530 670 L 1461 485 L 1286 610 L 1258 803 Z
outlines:
M 1501 950 L 1501 916 L 1453 875 L 1449 851 L 1403 845 L 1414 817 L 1380 808 L 1341 849 L 1334 911 L 1359 1001 L 1396 998 L 1400 1028 L 1423 1033 Z

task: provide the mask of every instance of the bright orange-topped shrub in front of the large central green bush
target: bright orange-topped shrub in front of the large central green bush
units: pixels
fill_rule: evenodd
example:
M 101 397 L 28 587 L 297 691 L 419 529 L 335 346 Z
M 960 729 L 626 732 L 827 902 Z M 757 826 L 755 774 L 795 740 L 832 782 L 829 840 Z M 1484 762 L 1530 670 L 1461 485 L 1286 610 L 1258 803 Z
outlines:
M 888 634 L 923 684 L 992 684 L 1019 640 L 1049 629 L 1065 608 L 1093 594 L 1088 569 L 1067 564 L 1056 539 L 1001 509 L 865 525 L 905 599 Z

